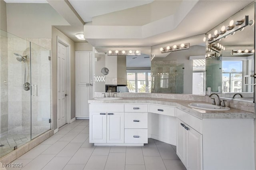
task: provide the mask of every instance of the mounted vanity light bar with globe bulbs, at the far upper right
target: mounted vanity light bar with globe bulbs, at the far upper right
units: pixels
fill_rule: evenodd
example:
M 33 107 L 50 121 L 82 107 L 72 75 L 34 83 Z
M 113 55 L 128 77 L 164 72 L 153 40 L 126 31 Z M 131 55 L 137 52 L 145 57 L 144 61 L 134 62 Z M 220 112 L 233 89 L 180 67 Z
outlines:
M 252 23 L 252 24 L 250 24 Z M 208 43 L 213 43 L 216 42 L 218 40 L 220 40 L 221 38 L 226 38 L 226 36 L 230 35 L 230 34 L 234 34 L 234 32 L 240 30 L 242 31 L 244 29 L 244 27 L 248 26 L 248 25 L 253 25 L 254 21 L 250 21 L 249 22 L 249 16 L 246 15 L 244 16 L 244 18 L 242 18 L 242 20 L 239 21 L 234 21 L 231 20 L 229 22 L 229 26 L 222 26 L 220 30 L 215 30 L 214 34 L 206 34 L 206 37 L 203 39 L 204 42 L 206 40 L 208 40 Z

